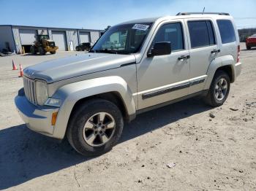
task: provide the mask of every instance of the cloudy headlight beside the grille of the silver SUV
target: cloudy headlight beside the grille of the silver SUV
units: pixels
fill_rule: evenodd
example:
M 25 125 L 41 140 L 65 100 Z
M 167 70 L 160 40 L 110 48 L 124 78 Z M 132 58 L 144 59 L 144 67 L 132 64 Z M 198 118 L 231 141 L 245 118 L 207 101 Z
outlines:
M 42 106 L 48 99 L 48 86 L 46 82 L 36 81 L 37 104 Z

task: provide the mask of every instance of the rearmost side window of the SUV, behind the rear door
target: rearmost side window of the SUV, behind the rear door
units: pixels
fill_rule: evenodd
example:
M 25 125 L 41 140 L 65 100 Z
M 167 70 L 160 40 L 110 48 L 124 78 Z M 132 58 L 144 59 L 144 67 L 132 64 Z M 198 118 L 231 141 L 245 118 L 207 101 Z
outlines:
M 222 44 L 236 42 L 236 34 L 230 20 L 217 20 L 219 33 L 222 37 Z

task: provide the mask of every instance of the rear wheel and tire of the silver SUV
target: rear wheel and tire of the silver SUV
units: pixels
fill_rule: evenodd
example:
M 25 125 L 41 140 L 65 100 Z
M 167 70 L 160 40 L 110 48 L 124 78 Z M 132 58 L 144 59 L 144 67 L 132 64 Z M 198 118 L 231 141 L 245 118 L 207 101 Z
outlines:
M 229 92 L 230 77 L 225 71 L 219 70 L 214 75 L 214 79 L 211 82 L 211 87 L 208 90 L 204 101 L 206 102 L 206 104 L 213 107 L 222 106 L 222 104 L 224 104 L 224 102 L 226 101 Z

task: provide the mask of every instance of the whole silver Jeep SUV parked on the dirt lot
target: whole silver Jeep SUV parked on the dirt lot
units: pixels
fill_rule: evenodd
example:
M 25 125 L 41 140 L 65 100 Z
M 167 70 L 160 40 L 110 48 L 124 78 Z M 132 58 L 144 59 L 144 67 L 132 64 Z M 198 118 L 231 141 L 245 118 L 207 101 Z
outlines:
M 100 155 L 137 114 L 195 95 L 221 106 L 241 73 L 239 54 L 227 13 L 132 20 L 86 54 L 27 67 L 15 104 L 31 130 Z

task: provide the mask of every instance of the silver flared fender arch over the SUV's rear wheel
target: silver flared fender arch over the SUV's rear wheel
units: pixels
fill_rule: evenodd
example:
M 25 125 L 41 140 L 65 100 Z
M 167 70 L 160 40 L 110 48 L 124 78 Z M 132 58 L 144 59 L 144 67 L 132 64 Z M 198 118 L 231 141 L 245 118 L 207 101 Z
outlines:
M 214 78 L 214 74 L 222 66 L 230 66 L 232 70 L 232 78 L 231 82 L 233 82 L 236 78 L 235 74 L 235 61 L 232 55 L 224 55 L 220 56 L 218 58 L 215 58 L 213 61 L 211 61 L 208 70 L 207 70 L 207 79 L 206 84 L 204 87 L 204 90 L 208 90 L 211 86 L 211 81 Z

